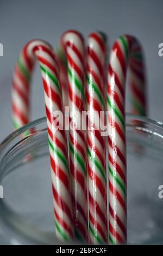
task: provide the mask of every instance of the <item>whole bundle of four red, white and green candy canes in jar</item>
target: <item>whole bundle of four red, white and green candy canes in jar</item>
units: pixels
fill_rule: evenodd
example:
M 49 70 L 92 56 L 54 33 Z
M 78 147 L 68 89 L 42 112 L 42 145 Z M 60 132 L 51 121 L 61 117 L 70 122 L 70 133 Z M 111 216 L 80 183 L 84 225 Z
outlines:
M 60 40 L 59 58 L 46 41 L 29 41 L 14 72 L 12 119 L 15 128 L 29 122 L 30 78 L 36 59 L 45 94 L 56 234 L 61 240 L 76 237 L 87 242 L 89 238 L 91 244 L 103 244 L 109 237 L 110 244 L 124 244 L 127 241 L 125 84 L 128 67 L 132 112 L 147 115 L 140 43 L 130 35 L 123 35 L 115 41 L 110 54 L 107 88 L 107 121 L 111 128 L 108 139 L 109 235 L 106 136 L 102 135 L 100 127 L 101 121 L 104 122 L 100 114 L 105 110 L 106 37 L 102 32 L 91 33 L 86 51 L 82 35 L 74 30 L 67 31 Z M 59 124 L 55 124 L 54 117 L 55 111 L 63 112 L 62 97 L 67 105 L 67 86 L 71 113 L 69 158 L 64 127 L 59 126 L 59 119 Z M 89 111 L 87 133 L 80 125 L 86 109 Z

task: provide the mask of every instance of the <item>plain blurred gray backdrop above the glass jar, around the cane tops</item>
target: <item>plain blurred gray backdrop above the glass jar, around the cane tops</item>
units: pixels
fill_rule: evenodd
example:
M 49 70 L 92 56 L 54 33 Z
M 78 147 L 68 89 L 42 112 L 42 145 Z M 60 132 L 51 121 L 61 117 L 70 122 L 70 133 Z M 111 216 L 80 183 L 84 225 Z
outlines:
M 110 45 L 123 33 L 140 39 L 144 46 L 148 71 L 149 116 L 163 121 L 163 57 L 158 45 L 163 41 L 163 1 L 0 1 L 0 141 L 12 131 L 11 79 L 18 53 L 28 40 L 46 39 L 57 46 L 66 29 L 78 29 L 86 37 L 101 29 L 109 35 Z M 33 79 L 32 120 L 45 116 L 43 88 L 38 67 Z M 127 97 L 128 98 L 128 97 Z M 127 111 L 129 111 L 127 100 Z

